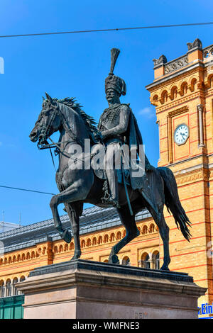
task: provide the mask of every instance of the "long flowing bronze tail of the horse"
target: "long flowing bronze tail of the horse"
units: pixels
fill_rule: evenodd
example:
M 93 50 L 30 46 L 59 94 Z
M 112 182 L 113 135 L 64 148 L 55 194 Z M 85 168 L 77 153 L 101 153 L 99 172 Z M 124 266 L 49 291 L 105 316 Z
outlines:
M 164 181 L 165 205 L 168 209 L 168 212 L 173 213 L 173 217 L 178 229 L 180 227 L 182 235 L 185 237 L 185 239 L 187 239 L 188 242 L 190 242 L 190 237 L 192 237 L 192 235 L 190 234 L 190 230 L 188 229 L 187 225 L 191 227 L 191 222 L 187 218 L 185 210 L 182 208 L 180 203 L 178 196 L 178 186 L 175 180 L 175 176 L 173 175 L 173 171 L 165 166 L 159 167 L 157 169 Z

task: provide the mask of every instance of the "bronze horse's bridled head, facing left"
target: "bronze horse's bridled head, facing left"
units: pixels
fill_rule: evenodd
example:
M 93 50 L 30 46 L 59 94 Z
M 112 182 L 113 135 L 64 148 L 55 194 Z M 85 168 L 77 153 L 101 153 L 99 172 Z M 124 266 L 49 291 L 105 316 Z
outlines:
M 45 144 L 48 137 L 60 128 L 60 116 L 57 111 L 57 103 L 53 101 L 53 98 L 47 93 L 45 94 L 47 98 L 43 98 L 42 110 L 29 135 L 31 141 L 38 141 L 40 145 Z

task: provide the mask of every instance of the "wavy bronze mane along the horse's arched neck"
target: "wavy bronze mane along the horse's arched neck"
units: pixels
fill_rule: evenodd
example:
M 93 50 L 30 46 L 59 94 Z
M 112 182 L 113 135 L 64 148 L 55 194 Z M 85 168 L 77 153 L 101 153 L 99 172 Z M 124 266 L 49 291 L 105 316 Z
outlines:
M 97 142 L 96 137 L 100 135 L 100 132 L 97 129 L 97 123 L 94 118 L 92 118 L 90 115 L 87 115 L 87 113 L 82 110 L 80 103 L 76 103 L 75 97 L 66 97 L 63 99 L 53 98 L 53 101 L 62 103 L 69 108 L 73 108 L 82 117 L 82 120 L 84 120 L 86 128 L 89 132 L 89 137 L 91 137 L 94 143 Z

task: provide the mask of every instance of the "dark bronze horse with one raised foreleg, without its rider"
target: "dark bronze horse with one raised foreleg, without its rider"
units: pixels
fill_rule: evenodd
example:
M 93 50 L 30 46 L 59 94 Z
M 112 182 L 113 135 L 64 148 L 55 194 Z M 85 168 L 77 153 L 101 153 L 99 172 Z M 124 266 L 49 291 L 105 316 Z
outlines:
M 50 136 L 57 131 L 60 132 L 60 139 L 55 144 Z M 50 201 L 50 208 L 53 212 L 56 230 L 58 230 L 62 239 L 69 243 L 72 235 L 68 230 L 62 228 L 62 222 L 58 214 L 58 205 L 60 203 L 65 205 L 75 241 L 75 253 L 72 259 L 81 256 L 79 220 L 80 215 L 82 215 L 83 204 L 92 203 L 103 207 L 102 198 L 104 196 L 104 180 L 96 176 L 94 169 L 84 167 L 79 169 L 73 167 L 73 165 L 77 163 L 85 164 L 86 159 L 91 158 L 90 154 L 86 156 L 82 153 L 84 152 L 84 140 L 90 139 L 92 145 L 95 145 L 100 137 L 101 135 L 95 127 L 93 118 L 82 111 L 80 104 L 75 103 L 74 98 L 59 100 L 51 98 L 48 94 L 46 94 L 46 99 L 43 98 L 43 108 L 35 127 L 31 131 L 30 138 L 33 142 L 38 141 L 38 145 L 43 148 L 55 145 L 58 149 L 59 166 L 56 173 L 56 183 L 60 193 L 53 196 Z M 48 144 L 48 138 L 53 142 L 53 145 Z M 82 152 L 75 154 L 75 158 L 70 155 L 72 145 L 82 147 Z M 128 186 L 133 215 L 129 210 L 124 184 L 119 184 L 120 208 L 116 209 L 122 224 L 126 228 L 126 236 L 112 247 L 109 263 L 118 264 L 119 259 L 116 254 L 139 235 L 135 215 L 147 208 L 156 225 L 158 225 L 160 237 L 163 239 L 164 257 L 163 266 L 160 269 L 169 270 L 169 227 L 166 225 L 163 216 L 164 204 L 168 211 L 173 213 L 178 229 L 180 227 L 182 235 L 188 241 L 191 235 L 187 225 L 190 225 L 190 221 L 180 203 L 175 177 L 170 169 L 167 167 L 153 168 L 153 171 L 148 173 L 147 179 L 148 186 L 152 188 L 152 202 L 148 202 L 144 198 L 143 188 L 140 191 L 133 191 L 131 186 Z

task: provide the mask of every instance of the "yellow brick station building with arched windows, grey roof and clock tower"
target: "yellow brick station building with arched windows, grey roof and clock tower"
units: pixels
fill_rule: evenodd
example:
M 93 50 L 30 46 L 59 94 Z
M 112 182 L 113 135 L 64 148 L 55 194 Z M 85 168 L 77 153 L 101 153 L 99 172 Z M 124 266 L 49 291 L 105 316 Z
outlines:
M 199 300 L 201 305 L 213 301 L 213 45 L 202 48 L 196 39 L 187 43 L 187 49 L 170 62 L 164 55 L 155 59 L 154 81 L 146 89 L 159 128 L 158 166 L 169 166 L 175 174 L 180 201 L 192 222 L 189 243 L 165 210 L 170 270 L 189 273 L 195 283 L 208 288 Z M 61 219 L 70 227 L 67 215 Z M 120 264 L 158 269 L 163 263 L 158 228 L 146 210 L 136 220 L 140 235 L 121 249 Z M 111 247 L 124 235 L 114 208 L 87 208 L 80 218 L 82 259 L 107 262 Z M 1 233 L 0 240 L 5 246 L 0 258 L 0 300 L 16 295 L 14 283 L 35 267 L 67 261 L 74 253 L 73 241 L 66 244 L 60 239 L 52 219 Z

